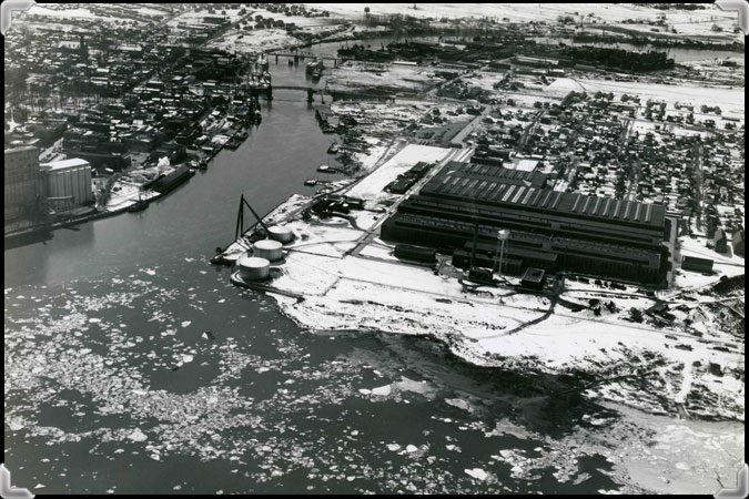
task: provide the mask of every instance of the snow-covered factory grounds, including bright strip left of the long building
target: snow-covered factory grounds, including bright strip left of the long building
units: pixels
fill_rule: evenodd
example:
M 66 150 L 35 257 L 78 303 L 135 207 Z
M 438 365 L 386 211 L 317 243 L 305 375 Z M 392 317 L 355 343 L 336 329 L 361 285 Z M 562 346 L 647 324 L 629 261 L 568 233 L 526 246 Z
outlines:
M 382 189 L 398 173 L 418 161 L 439 161 L 448 153 L 449 150 L 411 144 L 346 194 L 383 201 Z M 298 206 L 298 200 L 291 204 Z M 672 413 L 681 405 L 692 415 L 743 419 L 743 338 L 727 326 L 708 327 L 717 324 L 722 310 L 708 303 L 710 299 L 685 302 L 688 312 L 672 310 L 676 320 L 665 326 L 648 317 L 641 323 L 629 320 L 630 308 L 644 312 L 656 304 L 631 286 L 615 291 L 569 282 L 563 297 L 579 304 L 577 312 L 553 305 L 548 297 L 517 294 L 510 288 L 479 288 L 472 293 L 454 277 L 398 262 L 388 246 L 376 240 L 364 245 L 361 255 L 352 255 L 356 244 L 365 241 L 364 231 L 376 226 L 373 224 L 384 216 L 354 213 L 362 222 L 358 230 L 344 218 L 287 222 L 297 240 L 289 245 L 279 267 L 282 275 L 272 285 L 305 299 L 273 296 L 282 310 L 302 326 L 427 333 L 456 355 L 479 365 L 586 373 L 601 378 L 639 373 L 641 376 L 591 388 L 587 395 L 658 414 Z M 690 249 L 685 245 L 684 251 Z M 736 265 L 738 261 L 726 263 L 733 264 L 729 275 L 743 272 L 742 266 Z M 721 269 L 706 284 L 717 282 L 723 273 L 728 271 Z M 604 309 L 597 316 L 588 307 L 591 298 L 611 302 L 615 310 Z M 717 367 L 708 370 L 708 366 Z M 721 375 L 716 376 L 715 369 Z

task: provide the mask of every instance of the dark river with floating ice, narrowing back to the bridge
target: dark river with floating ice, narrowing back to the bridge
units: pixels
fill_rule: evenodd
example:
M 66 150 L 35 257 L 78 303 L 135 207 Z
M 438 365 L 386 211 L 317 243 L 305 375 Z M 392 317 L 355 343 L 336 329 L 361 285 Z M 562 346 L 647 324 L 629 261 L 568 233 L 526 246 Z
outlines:
M 274 82 L 302 68 L 271 61 Z M 265 213 L 327 162 L 301 92 L 138 214 L 4 252 L 4 461 L 36 493 L 632 490 L 641 424 L 427 337 L 320 333 L 229 283 L 239 196 Z M 424 332 L 425 334 L 428 332 Z M 374 390 L 374 391 L 373 391 Z M 611 421 L 593 426 L 590 421 Z M 621 430 L 631 428 L 631 431 Z M 627 426 L 629 425 L 629 426 Z M 598 441 L 598 442 L 596 442 Z

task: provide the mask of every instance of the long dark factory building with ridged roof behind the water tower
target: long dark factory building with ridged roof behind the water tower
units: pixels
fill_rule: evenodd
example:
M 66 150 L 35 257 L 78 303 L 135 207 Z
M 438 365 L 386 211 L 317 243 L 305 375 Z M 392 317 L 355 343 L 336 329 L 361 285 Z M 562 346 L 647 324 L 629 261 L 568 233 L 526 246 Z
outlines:
M 527 267 L 650 285 L 664 283 L 662 205 L 553 191 L 547 175 L 451 162 L 382 226 L 386 241 L 452 252 L 458 267 L 493 267 L 509 228 L 503 272 Z M 474 252 L 475 246 L 475 252 Z

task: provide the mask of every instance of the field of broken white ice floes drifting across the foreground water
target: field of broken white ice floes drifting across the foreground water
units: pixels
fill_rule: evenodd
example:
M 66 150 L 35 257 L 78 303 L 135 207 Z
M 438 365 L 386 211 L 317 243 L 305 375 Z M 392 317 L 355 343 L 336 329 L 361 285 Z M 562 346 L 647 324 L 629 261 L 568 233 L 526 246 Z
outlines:
M 162 274 L 163 268 L 159 278 Z M 645 450 L 667 452 L 674 447 L 667 437 L 679 435 L 678 428 L 664 430 L 659 445 L 666 450 L 651 449 L 652 435 L 645 430 L 650 420 L 627 426 L 590 411 L 566 436 L 550 437 L 499 418 L 473 393 L 447 388 L 449 376 L 424 375 L 436 367 L 401 369 L 424 359 L 385 361 L 392 353 L 376 344 L 362 360 L 350 347 L 360 339 L 290 333 L 275 315 L 267 320 L 275 312 L 256 295 L 185 313 L 185 293 L 160 286 L 158 278 L 101 286 L 102 295 L 79 289 L 50 298 L 52 305 L 41 313 L 7 314 L 7 436 L 10 430 L 17 441 L 74 445 L 85 456 L 151 467 L 173 457 L 217 461 L 226 473 L 252 483 L 243 491 L 277 491 L 272 483 L 302 476 L 312 491 L 343 483 L 358 492 L 496 493 L 527 490 L 526 482 L 545 470 L 560 483 L 615 491 L 628 479 L 626 468 L 616 467 L 646 459 Z M 195 293 L 205 303 L 216 302 L 213 293 Z M 191 324 L 200 328 L 189 329 Z M 206 327 L 216 334 L 198 334 Z M 336 349 L 341 353 L 328 354 Z M 175 365 L 179 370 L 171 370 Z M 51 404 L 69 411 L 70 421 L 53 427 L 42 420 Z M 90 422 L 97 419 L 102 422 Z M 383 419 L 389 426 L 382 427 Z M 82 422 L 92 426 L 79 427 Z M 599 442 L 604 431 L 626 456 Z M 692 438 L 707 438 L 701 435 Z M 621 444 L 632 438 L 641 447 Z M 710 438 L 715 446 L 729 446 Z M 519 448 L 520 442 L 528 447 Z M 590 456 L 604 465 L 583 472 Z M 678 462 L 696 461 L 671 459 L 670 468 L 694 473 Z M 596 481 L 615 471 L 616 482 Z M 179 490 L 174 482 L 164 487 Z M 113 493 L 117 487 L 107 482 L 100 490 Z

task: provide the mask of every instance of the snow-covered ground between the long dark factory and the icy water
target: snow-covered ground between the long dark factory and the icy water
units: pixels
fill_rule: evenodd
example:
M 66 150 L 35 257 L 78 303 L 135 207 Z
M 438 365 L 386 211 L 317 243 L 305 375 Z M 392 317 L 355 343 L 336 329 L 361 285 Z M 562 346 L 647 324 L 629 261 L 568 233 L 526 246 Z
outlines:
M 298 222 L 291 226 L 303 231 Z M 639 358 L 655 356 L 658 365 L 682 371 L 684 377 L 661 380 L 656 375 L 631 385 L 616 383 L 601 389 L 600 395 L 662 411 L 664 405 L 700 400 L 700 394 L 707 390 L 717 394 L 722 405 L 706 409 L 692 408 L 689 403 L 688 409 L 743 418 L 743 385 L 737 378 L 742 371 L 742 345 L 735 345 L 729 352 L 715 349 L 741 343 L 730 335 L 718 334 L 706 340 L 684 330 L 628 323 L 623 318 L 626 314 L 595 317 L 593 313 L 575 314 L 559 307 L 549 313 L 549 301 L 543 297 L 515 295 L 497 299 L 470 295 L 457 281 L 434 275 L 428 268 L 395 261 L 335 257 L 342 254 L 336 247 L 338 242 L 355 237 L 354 233 L 343 237 L 341 231 L 331 228 L 330 235 L 324 236 L 315 227 L 314 251 L 318 255 L 291 252 L 283 277 L 273 283 L 305 295 L 304 302 L 281 302 L 284 313 L 305 327 L 428 333 L 476 364 L 550 373 L 632 374 Z M 330 243 L 321 242 L 321 237 L 327 237 Z M 331 251 L 321 251 L 326 245 Z M 365 255 L 379 258 L 383 252 L 368 249 Z M 623 305 L 623 301 L 618 303 Z M 651 304 L 640 299 L 629 302 L 628 306 Z M 702 367 L 692 368 L 695 363 Z M 708 374 L 709 364 L 720 366 L 725 376 Z M 652 390 L 647 396 L 637 395 L 641 383 Z M 669 386 L 669 393 L 662 391 L 664 384 Z

